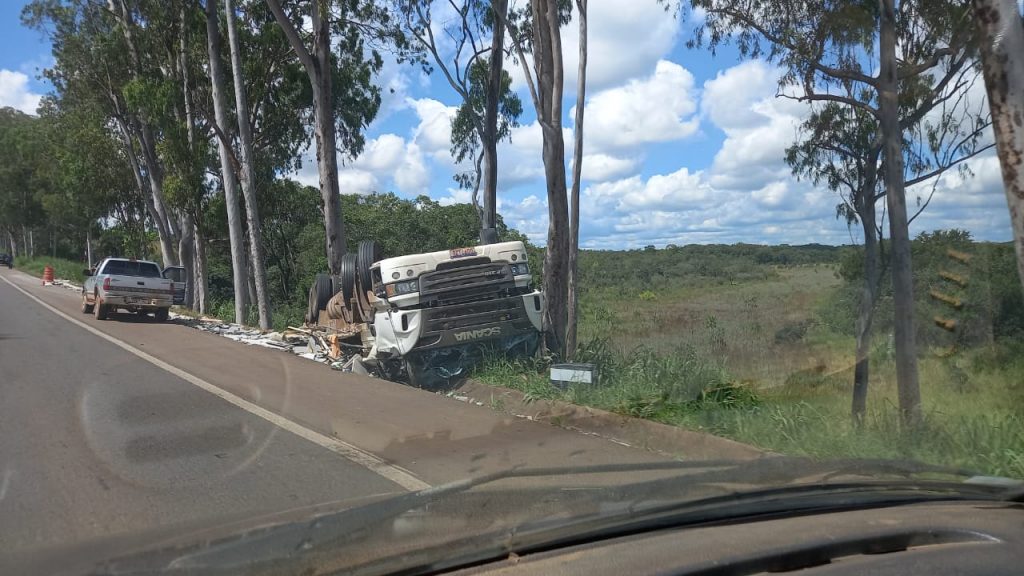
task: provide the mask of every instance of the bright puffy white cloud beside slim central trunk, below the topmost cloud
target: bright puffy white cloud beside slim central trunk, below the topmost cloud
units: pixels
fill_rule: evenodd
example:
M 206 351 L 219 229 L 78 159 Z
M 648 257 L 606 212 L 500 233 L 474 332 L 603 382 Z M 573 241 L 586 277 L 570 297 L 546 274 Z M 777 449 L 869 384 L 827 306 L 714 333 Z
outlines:
M 693 75 L 669 60 L 642 80 L 594 94 L 586 106 L 584 141 L 596 151 L 677 140 L 699 127 Z

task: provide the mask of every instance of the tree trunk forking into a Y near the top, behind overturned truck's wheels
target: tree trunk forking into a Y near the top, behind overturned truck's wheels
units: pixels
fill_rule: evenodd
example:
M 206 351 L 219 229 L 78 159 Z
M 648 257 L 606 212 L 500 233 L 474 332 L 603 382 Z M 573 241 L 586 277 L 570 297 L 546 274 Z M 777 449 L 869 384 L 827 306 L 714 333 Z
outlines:
M 345 223 L 341 217 L 341 191 L 338 184 L 338 143 L 334 125 L 334 99 L 331 95 L 331 25 L 322 17 L 326 3 L 309 2 L 313 30 L 313 51 L 306 49 L 298 31 L 281 8 L 280 0 L 266 0 L 274 19 L 295 50 L 309 77 L 313 92 L 313 132 L 316 135 L 316 168 L 319 173 L 321 198 L 324 203 L 324 228 L 327 232 L 327 261 L 333 275 L 341 274 L 341 257 L 345 254 Z

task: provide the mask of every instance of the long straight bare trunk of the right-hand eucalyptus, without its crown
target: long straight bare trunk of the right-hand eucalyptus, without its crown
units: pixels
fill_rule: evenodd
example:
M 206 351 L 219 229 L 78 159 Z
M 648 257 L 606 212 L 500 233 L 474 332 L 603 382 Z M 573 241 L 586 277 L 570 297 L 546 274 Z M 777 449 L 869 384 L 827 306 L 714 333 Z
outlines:
M 899 127 L 899 81 L 896 59 L 895 0 L 880 0 L 879 124 L 885 155 L 886 201 L 889 206 L 889 237 L 892 243 L 893 327 L 896 340 L 896 385 L 903 424 L 921 422 L 921 387 L 918 381 L 918 346 L 913 329 L 913 271 L 910 263 L 910 231 L 907 225 L 903 189 L 903 137 Z

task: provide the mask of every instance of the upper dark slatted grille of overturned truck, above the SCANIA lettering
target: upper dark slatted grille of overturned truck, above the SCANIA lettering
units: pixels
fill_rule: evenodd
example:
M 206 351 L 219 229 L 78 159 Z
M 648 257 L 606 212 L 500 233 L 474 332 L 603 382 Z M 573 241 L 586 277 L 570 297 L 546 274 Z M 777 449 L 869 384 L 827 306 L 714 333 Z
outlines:
M 420 303 L 427 305 L 500 298 L 514 290 L 512 270 L 503 262 L 436 271 L 420 277 Z

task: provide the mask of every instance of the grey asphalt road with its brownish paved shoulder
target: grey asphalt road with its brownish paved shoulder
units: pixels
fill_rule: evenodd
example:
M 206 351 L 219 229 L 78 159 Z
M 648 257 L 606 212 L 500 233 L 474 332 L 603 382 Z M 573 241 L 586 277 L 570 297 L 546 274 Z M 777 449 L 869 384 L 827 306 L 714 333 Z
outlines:
M 656 458 L 183 325 L 100 322 L 75 292 L 0 271 L 0 573 L 110 535 Z

